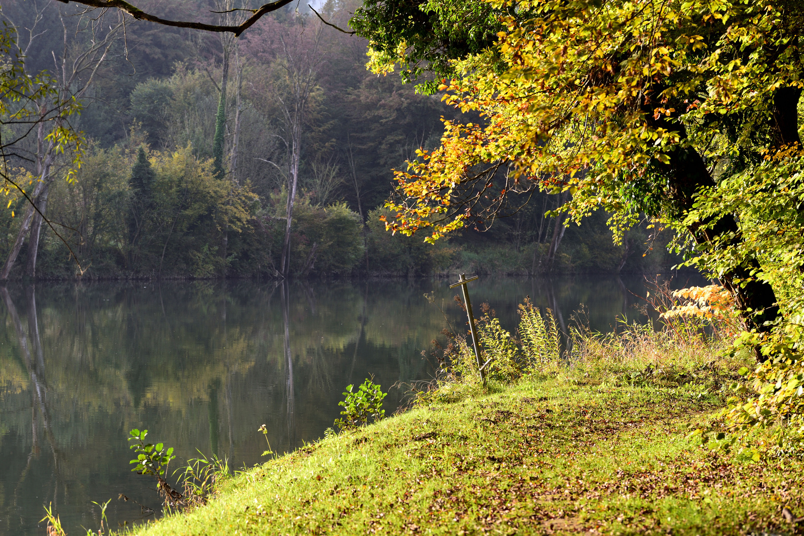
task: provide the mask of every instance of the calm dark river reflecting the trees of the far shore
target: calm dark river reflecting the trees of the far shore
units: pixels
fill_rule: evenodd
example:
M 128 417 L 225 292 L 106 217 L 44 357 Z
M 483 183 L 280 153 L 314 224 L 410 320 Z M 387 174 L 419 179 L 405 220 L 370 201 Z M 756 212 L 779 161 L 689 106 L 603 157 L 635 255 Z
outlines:
M 677 277 L 674 286 L 684 286 Z M 699 284 L 700 280 L 695 280 Z M 323 436 L 344 388 L 373 375 L 384 389 L 428 379 L 422 350 L 461 313 L 446 280 L 95 283 L 0 287 L 0 534 L 44 534 L 43 505 L 70 536 L 98 529 L 92 501 L 112 499 L 113 528 L 158 509 L 150 477 L 129 471 L 131 428 L 232 467 L 260 461 L 269 430 L 286 452 Z M 435 292 L 430 304 L 424 293 Z M 564 325 L 584 304 L 592 329 L 645 295 L 641 276 L 470 283 L 503 326 L 530 295 Z M 461 320 L 462 321 L 462 320 Z M 386 413 L 404 389 L 392 389 Z M 172 469 L 171 469 L 172 471 Z

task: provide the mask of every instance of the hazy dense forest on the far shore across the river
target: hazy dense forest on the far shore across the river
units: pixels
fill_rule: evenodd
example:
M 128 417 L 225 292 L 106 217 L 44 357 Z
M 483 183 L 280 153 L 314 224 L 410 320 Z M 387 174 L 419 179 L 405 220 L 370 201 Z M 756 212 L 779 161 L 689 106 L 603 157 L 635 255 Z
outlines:
M 346 28 L 352 3 L 326 2 L 322 18 Z M 235 8 L 183 2 L 230 23 Z M 644 223 L 617 245 L 604 211 L 580 226 L 545 217 L 568 195 L 550 191 L 436 245 L 386 231 L 392 170 L 437 146 L 457 111 L 368 72 L 367 41 L 301 4 L 240 38 L 59 2 L 10 0 L 0 15 L 27 74 L 47 73 L 78 103 L 70 125 L 84 137 L 77 170 L 47 129 L 6 158 L 38 211 L 7 190 L 0 279 L 655 272 L 678 261 Z

